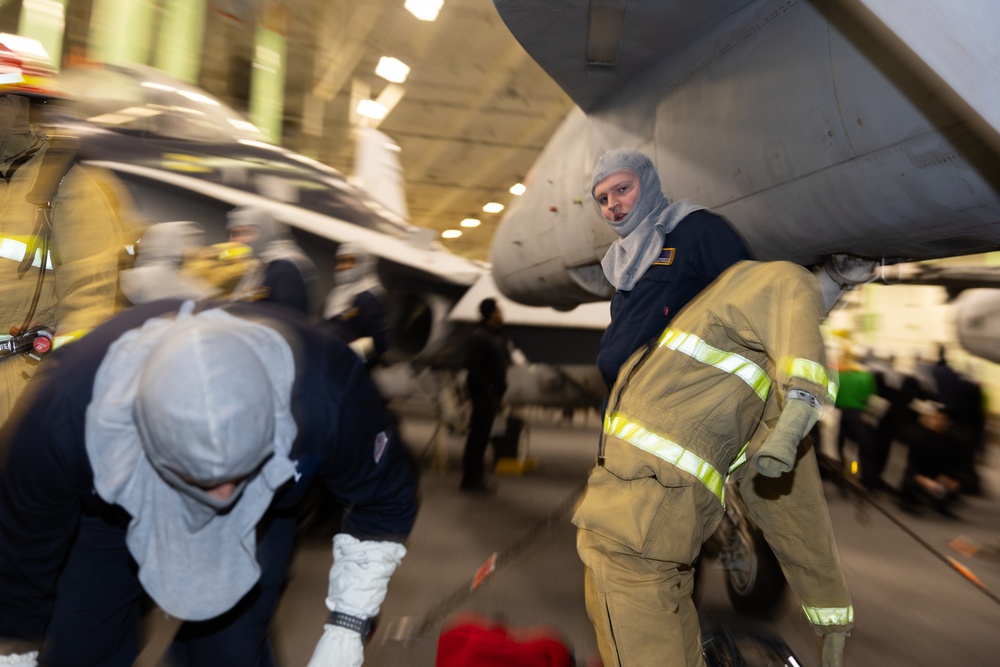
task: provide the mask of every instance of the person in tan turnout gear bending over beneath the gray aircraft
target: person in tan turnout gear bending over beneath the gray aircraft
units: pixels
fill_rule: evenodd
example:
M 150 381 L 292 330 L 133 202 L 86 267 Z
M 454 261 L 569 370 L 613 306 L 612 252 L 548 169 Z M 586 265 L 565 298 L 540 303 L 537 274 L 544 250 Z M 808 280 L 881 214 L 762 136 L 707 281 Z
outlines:
M 704 664 L 693 563 L 727 476 L 824 636 L 824 667 L 842 663 L 854 610 L 816 454 L 800 444 L 836 393 L 825 312 L 806 269 L 739 262 L 622 366 L 573 517 L 606 667 Z

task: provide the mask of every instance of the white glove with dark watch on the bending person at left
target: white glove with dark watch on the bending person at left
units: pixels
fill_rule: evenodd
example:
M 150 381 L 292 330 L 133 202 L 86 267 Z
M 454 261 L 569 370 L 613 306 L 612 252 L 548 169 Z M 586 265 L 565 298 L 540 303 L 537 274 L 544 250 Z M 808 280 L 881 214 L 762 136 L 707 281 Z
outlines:
M 357 629 L 334 622 L 362 623 L 378 615 L 406 547 L 397 542 L 360 541 L 343 533 L 333 538 L 333 567 L 326 606 L 331 622 L 323 626 L 308 667 L 361 667 L 364 637 Z M 334 621 L 334 617 L 337 616 Z

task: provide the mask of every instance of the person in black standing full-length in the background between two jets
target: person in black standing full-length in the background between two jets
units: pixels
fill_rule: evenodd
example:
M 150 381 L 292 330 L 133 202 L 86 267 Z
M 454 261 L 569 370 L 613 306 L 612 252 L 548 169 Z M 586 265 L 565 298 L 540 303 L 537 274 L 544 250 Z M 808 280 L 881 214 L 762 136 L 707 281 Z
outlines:
M 472 400 L 469 435 L 462 455 L 461 490 L 489 493 L 484 479 L 483 458 L 489 444 L 493 420 L 507 391 L 507 369 L 510 368 L 510 339 L 503 330 L 503 313 L 496 299 L 483 299 L 479 304 L 481 319 L 469 337 L 465 367 L 466 386 Z

